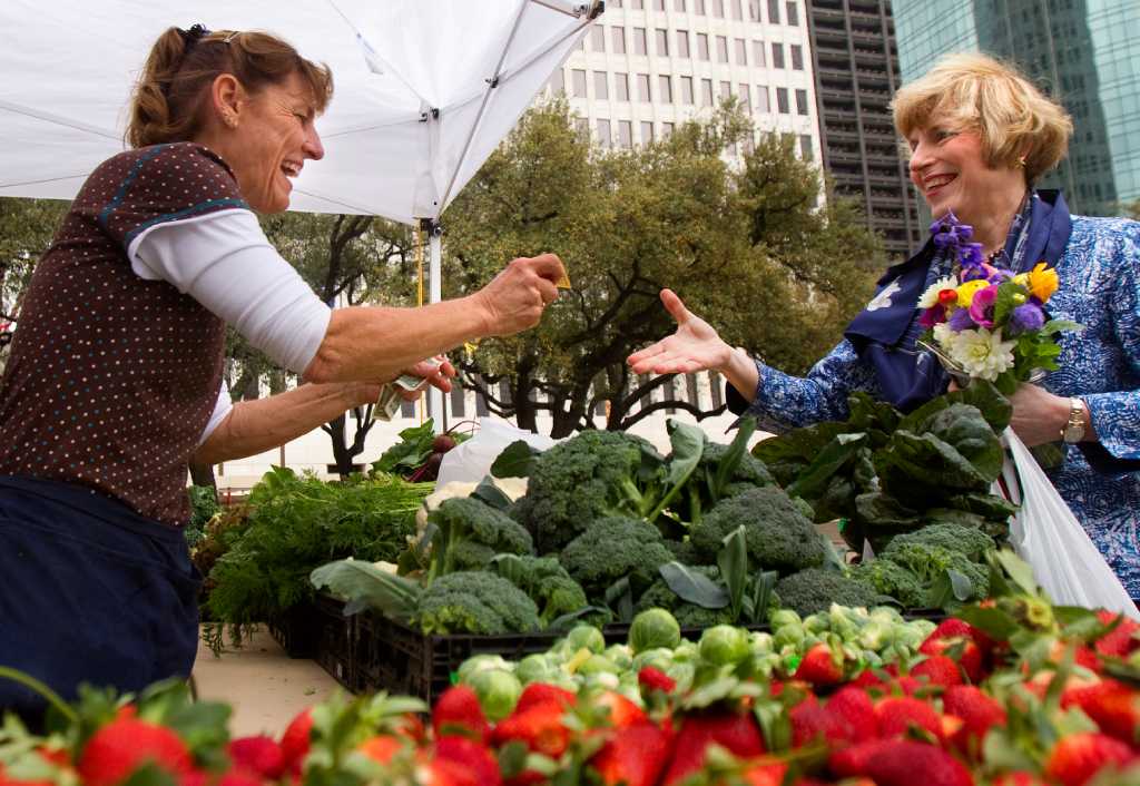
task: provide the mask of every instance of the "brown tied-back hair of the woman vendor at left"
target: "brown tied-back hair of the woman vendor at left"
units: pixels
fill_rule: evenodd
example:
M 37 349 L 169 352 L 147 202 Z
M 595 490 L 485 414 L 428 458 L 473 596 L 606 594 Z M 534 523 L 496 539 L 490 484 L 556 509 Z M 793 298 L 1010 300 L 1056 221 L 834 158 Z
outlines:
M 225 73 L 234 74 L 251 95 L 296 73 L 311 89 L 318 113 L 333 96 L 328 66 L 304 59 L 275 35 L 219 31 L 198 38 L 169 27 L 150 48 L 135 86 L 127 144 L 146 147 L 193 139 L 205 120 L 209 88 Z

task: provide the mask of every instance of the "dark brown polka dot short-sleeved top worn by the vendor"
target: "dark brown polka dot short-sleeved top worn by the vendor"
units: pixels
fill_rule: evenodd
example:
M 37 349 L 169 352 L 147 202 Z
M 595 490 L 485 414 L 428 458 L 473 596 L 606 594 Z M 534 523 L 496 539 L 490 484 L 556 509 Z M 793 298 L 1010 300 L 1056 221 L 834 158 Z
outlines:
M 246 208 L 201 145 L 104 162 L 35 266 L 0 388 L 0 473 L 117 497 L 189 520 L 186 472 L 221 388 L 225 323 L 127 252 L 163 221 Z

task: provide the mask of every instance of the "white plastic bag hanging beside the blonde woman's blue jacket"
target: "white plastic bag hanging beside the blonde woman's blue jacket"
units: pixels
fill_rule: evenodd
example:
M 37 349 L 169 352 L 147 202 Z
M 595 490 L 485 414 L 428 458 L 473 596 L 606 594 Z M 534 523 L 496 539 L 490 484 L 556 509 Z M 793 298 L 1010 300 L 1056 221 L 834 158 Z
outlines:
M 1140 619 L 1132 599 L 1097 545 L 1073 516 L 1029 448 L 1005 429 L 1002 477 L 1010 502 L 1021 508 L 1010 521 L 1010 544 L 1033 567 L 1054 603 L 1105 608 Z

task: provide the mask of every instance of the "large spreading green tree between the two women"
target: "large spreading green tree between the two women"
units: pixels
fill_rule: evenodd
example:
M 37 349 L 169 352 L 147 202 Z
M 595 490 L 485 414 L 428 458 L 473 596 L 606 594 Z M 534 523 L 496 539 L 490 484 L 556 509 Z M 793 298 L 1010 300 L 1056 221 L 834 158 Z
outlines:
M 764 137 L 731 168 L 724 151 L 750 137 L 747 115 L 725 105 L 667 140 L 605 152 L 573 130 L 564 102 L 528 112 L 443 217 L 445 294 L 544 251 L 562 257 L 573 289 L 536 330 L 483 341 L 462 363 L 466 384 L 523 428 L 549 411 L 557 437 L 589 428 L 602 400 L 611 429 L 666 406 L 716 414 L 681 400 L 636 406 L 671 383 L 625 364 L 674 330 L 665 286 L 725 340 L 805 371 L 865 302 L 882 253 L 850 203 L 820 206 L 819 175 L 790 138 Z

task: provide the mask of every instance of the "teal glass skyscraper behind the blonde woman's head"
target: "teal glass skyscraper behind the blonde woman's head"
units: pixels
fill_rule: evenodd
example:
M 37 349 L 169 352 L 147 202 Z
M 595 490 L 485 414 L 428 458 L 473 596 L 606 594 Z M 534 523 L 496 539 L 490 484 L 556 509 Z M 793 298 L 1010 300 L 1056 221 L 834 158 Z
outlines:
M 895 0 L 903 83 L 939 56 L 1010 60 L 1073 116 L 1069 154 L 1041 184 L 1113 216 L 1140 200 L 1140 0 Z

